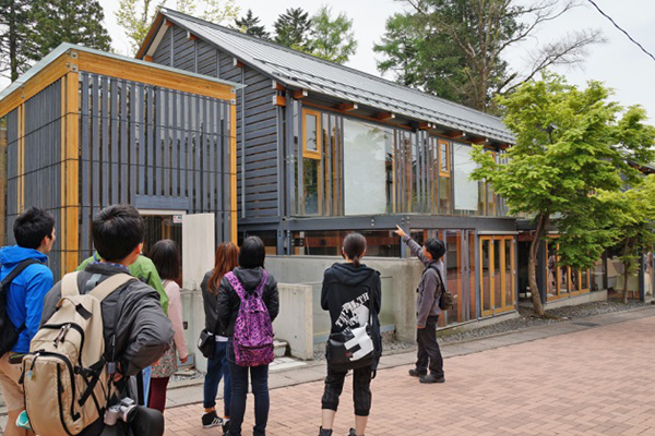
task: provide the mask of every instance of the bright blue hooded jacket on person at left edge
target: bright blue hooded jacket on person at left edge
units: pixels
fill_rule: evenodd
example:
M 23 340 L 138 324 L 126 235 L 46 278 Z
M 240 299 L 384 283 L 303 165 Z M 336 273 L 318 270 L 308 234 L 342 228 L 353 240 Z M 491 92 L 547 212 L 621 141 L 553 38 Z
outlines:
M 11 349 L 16 353 L 27 353 L 29 341 L 36 335 L 44 312 L 44 299 L 52 288 L 52 271 L 46 265 L 48 256 L 34 249 L 19 245 L 3 246 L 0 250 L 0 280 L 4 279 L 21 262 L 34 258 L 43 264 L 29 265 L 16 277 L 7 294 L 7 314 L 16 328 L 25 324 L 19 341 Z

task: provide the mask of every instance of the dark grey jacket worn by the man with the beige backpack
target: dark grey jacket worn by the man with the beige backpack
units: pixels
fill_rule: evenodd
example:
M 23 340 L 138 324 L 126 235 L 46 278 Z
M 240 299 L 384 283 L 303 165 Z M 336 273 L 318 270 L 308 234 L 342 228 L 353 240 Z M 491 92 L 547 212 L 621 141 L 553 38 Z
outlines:
M 102 283 L 119 272 L 127 271 L 112 265 L 87 265 L 78 276 L 80 293 L 91 292 L 93 288 L 87 283 L 95 275 L 99 276 L 97 283 Z M 61 281 L 46 295 L 41 326 L 57 311 L 60 299 Z M 100 310 L 106 346 L 111 343 L 116 328 L 116 360 L 123 374 L 135 375 L 158 361 L 170 348 L 172 325 L 164 314 L 159 294 L 150 286 L 138 280 L 130 281 L 103 300 Z M 109 352 L 107 348 L 105 351 Z M 111 360 L 111 356 L 107 355 L 107 359 Z

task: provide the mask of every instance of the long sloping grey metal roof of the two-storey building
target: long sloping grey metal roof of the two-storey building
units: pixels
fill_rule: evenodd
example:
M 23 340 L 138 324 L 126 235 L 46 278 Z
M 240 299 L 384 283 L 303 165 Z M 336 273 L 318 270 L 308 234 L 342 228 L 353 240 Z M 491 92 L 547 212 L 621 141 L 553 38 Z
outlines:
M 162 13 L 199 38 L 287 86 L 372 106 L 490 140 L 514 142 L 513 135 L 497 117 L 170 9 L 163 8 Z

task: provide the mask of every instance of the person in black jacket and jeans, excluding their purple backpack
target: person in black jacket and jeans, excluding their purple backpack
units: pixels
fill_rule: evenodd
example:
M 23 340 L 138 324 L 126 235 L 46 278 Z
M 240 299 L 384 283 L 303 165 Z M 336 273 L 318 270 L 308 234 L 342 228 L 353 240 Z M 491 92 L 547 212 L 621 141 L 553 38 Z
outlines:
M 243 286 L 247 294 L 252 294 L 261 283 L 264 271 L 264 258 L 266 252 L 264 243 L 258 237 L 249 237 L 243 241 L 239 251 L 239 266 L 234 269 L 235 276 Z M 271 316 L 271 323 L 279 312 L 279 299 L 277 294 L 277 282 L 269 274 L 262 300 Z M 269 365 L 239 366 L 236 363 L 233 336 L 235 334 L 235 322 L 239 314 L 241 299 L 233 289 L 229 280 L 223 277 L 218 290 L 216 311 L 218 322 L 227 326 L 227 362 L 231 377 L 233 391 L 229 413 L 229 436 L 241 436 L 241 424 L 246 413 L 246 396 L 248 393 L 248 373 L 250 373 L 252 393 L 254 395 L 254 436 L 266 434 L 266 422 L 269 420 Z

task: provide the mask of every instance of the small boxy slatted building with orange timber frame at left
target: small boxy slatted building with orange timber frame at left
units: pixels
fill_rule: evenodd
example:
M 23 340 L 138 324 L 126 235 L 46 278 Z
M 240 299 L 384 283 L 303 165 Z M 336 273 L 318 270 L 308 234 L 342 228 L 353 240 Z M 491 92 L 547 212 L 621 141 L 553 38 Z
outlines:
M 56 217 L 57 272 L 91 255 L 91 220 L 130 203 L 146 217 L 212 213 L 236 240 L 236 93 L 241 85 L 63 44 L 0 94 L 7 223 Z M 156 222 L 156 220 L 151 220 Z

